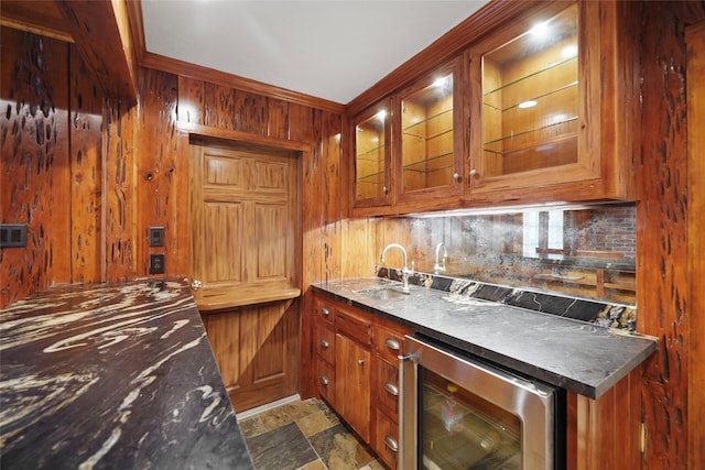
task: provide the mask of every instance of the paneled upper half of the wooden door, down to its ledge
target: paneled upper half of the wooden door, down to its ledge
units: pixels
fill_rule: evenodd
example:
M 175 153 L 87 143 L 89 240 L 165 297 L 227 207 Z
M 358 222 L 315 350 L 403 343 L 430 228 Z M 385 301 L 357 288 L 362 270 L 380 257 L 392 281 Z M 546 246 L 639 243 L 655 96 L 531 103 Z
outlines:
M 296 159 L 291 152 L 195 142 L 192 278 L 208 309 L 249 305 L 297 287 Z

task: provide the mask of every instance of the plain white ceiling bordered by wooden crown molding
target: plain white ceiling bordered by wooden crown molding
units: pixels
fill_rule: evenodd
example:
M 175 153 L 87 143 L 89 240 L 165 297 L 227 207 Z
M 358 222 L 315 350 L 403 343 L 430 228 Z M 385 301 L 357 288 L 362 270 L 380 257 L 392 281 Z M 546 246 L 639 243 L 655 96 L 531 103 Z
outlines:
M 150 53 L 347 103 L 488 0 L 142 0 Z

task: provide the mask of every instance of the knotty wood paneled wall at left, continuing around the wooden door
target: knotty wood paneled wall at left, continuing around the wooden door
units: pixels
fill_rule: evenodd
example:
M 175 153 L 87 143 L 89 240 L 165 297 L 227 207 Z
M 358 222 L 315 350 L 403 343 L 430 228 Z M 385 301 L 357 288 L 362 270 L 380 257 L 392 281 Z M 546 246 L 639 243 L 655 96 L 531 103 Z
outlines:
M 166 276 L 187 274 L 180 121 L 308 143 L 303 291 L 343 274 L 340 114 L 152 69 L 137 75 L 137 103 L 104 97 L 73 44 L 2 28 L 0 219 L 28 223 L 29 243 L 2 250 L 0 306 L 54 284 L 148 276 L 150 253 L 166 254 Z M 165 247 L 149 247 L 151 226 L 165 228 Z

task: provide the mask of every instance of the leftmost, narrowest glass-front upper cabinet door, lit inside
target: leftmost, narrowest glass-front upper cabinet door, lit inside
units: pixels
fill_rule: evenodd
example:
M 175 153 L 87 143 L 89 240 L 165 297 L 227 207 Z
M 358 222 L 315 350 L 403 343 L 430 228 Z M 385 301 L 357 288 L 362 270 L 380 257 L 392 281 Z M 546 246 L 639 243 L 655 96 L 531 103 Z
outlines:
M 386 100 L 354 119 L 355 206 L 389 204 L 390 101 Z

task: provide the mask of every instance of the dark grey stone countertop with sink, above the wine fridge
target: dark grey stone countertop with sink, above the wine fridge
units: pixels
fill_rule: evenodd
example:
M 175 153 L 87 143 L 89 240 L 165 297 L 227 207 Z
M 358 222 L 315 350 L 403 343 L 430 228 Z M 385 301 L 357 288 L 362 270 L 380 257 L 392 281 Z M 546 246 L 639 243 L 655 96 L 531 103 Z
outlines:
M 446 292 L 412 285 L 410 295 L 389 299 L 359 294 L 390 284 L 399 286 L 370 277 L 318 283 L 312 288 L 589 398 L 599 397 L 657 348 L 651 337 L 476 298 L 458 288 Z

